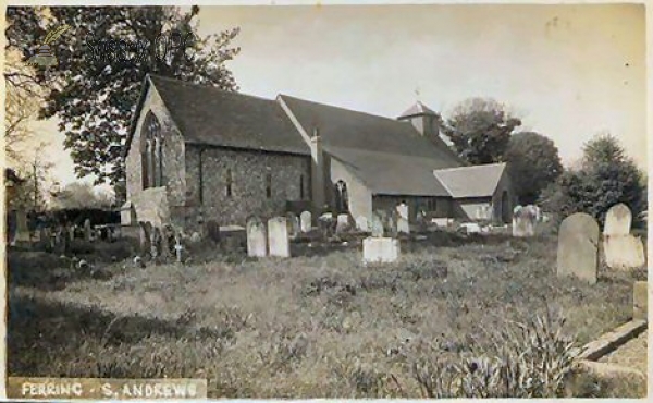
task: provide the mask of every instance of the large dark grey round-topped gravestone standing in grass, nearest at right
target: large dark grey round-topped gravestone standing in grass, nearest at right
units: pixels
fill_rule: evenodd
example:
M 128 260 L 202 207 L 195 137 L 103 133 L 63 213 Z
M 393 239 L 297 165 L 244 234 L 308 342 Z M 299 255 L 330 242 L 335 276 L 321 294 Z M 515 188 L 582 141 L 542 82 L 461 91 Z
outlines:
M 596 283 L 599 264 L 599 224 L 584 212 L 563 220 L 558 231 L 557 276 L 576 276 Z

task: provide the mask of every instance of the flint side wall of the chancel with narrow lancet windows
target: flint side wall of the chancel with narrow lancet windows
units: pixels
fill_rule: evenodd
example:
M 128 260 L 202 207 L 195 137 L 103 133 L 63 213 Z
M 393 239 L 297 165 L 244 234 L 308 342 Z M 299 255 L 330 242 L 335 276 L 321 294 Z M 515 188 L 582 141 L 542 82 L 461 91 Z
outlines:
M 185 160 L 187 225 L 197 222 L 200 211 L 205 222 L 215 220 L 220 225 L 245 225 L 249 216 L 283 215 L 286 202 L 310 198 L 309 156 L 186 145 Z M 227 194 L 230 171 L 231 195 Z M 268 174 L 271 175 L 270 197 Z

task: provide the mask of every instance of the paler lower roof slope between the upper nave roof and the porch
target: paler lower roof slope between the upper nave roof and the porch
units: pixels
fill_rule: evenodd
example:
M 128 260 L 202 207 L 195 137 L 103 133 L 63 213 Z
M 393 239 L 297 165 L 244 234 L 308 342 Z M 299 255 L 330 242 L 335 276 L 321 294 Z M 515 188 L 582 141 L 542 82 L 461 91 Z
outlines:
M 436 159 L 356 148 L 324 147 L 324 150 L 343 162 L 374 195 L 449 196 L 433 176 L 433 170 L 444 164 Z

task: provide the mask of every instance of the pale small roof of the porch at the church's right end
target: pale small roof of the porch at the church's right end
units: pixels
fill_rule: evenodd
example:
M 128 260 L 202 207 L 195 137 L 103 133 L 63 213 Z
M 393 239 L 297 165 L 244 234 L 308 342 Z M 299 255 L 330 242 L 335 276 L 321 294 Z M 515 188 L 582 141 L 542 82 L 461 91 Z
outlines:
M 489 197 L 506 169 L 505 162 L 435 170 L 433 174 L 454 198 Z

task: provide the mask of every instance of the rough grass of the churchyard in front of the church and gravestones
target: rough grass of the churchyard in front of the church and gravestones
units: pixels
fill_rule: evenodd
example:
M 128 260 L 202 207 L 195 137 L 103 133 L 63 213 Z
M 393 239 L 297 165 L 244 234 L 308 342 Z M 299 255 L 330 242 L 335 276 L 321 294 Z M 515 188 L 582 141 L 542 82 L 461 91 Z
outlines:
M 507 323 L 557 312 L 557 337 L 589 342 L 629 319 L 645 279 L 604 267 L 595 285 L 558 279 L 547 235 L 441 232 L 402 248 L 402 261 L 365 267 L 358 237 L 294 244 L 286 260 L 213 247 L 185 266 L 98 262 L 101 278 L 14 256 L 8 371 L 198 377 L 210 398 L 421 398 L 451 363 L 515 358 L 496 350 Z

